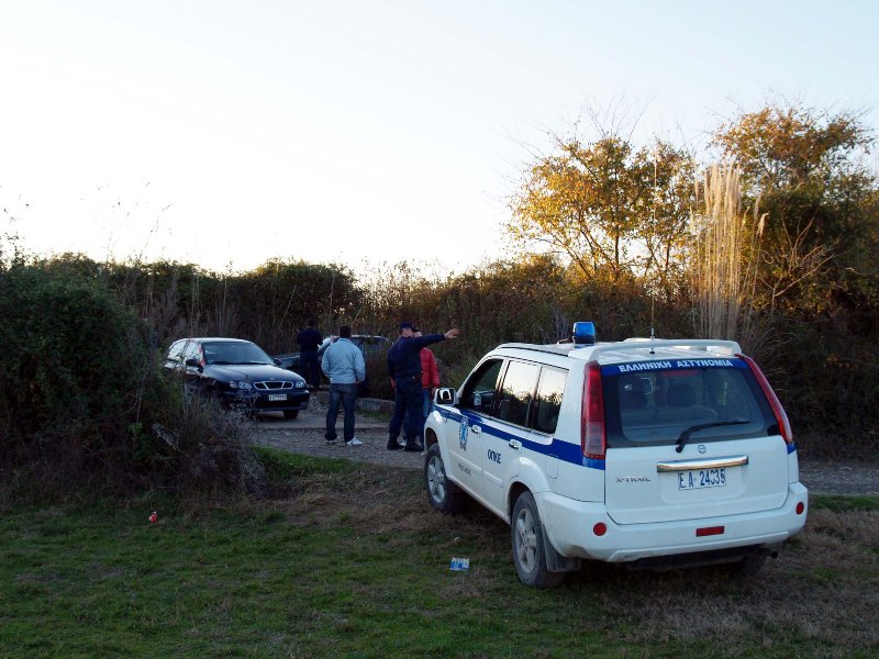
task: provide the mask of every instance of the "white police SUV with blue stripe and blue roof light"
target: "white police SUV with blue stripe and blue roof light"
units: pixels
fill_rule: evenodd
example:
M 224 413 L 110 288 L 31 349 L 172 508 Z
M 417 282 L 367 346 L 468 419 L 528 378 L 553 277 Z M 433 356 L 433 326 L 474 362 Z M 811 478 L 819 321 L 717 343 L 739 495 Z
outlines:
M 511 526 L 519 578 L 581 559 L 753 573 L 805 524 L 787 414 L 731 340 L 504 344 L 425 425 L 431 505 L 472 498 Z

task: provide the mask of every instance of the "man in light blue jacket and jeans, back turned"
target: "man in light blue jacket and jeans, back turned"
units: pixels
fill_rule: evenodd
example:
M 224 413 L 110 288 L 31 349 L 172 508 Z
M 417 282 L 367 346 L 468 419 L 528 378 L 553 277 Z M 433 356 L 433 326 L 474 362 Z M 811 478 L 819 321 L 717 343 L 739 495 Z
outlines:
M 327 444 L 336 440 L 336 418 L 340 403 L 345 410 L 345 446 L 360 446 L 363 442 L 354 436 L 354 403 L 357 400 L 357 384 L 366 379 L 366 364 L 360 348 L 351 342 L 351 325 L 338 328 L 334 339 L 323 353 L 321 368 L 330 378 L 330 406 L 326 410 Z

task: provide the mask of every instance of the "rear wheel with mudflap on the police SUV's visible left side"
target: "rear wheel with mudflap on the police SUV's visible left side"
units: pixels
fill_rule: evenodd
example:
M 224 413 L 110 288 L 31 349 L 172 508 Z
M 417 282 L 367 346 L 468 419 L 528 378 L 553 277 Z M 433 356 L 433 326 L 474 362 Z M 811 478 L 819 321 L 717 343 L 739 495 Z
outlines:
M 546 539 L 543 537 L 541 514 L 537 512 L 537 502 L 527 490 L 515 500 L 510 530 L 513 563 L 522 583 L 534 588 L 555 588 L 565 581 L 565 572 L 546 569 Z

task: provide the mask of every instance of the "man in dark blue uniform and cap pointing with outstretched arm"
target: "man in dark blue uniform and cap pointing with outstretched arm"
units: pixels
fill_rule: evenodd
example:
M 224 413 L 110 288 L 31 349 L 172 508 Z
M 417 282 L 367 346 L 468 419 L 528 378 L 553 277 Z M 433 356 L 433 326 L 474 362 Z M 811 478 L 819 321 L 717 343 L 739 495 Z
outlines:
M 405 447 L 403 450 L 422 451 L 419 445 L 419 428 L 424 425 L 422 415 L 423 393 L 421 389 L 421 348 L 431 344 L 457 338 L 458 330 L 445 334 L 425 334 L 415 338 L 414 326 L 405 321 L 400 323 L 400 338 L 388 350 L 388 375 L 393 388 L 393 416 L 388 426 L 388 450 L 397 450 L 397 437 L 403 427 Z

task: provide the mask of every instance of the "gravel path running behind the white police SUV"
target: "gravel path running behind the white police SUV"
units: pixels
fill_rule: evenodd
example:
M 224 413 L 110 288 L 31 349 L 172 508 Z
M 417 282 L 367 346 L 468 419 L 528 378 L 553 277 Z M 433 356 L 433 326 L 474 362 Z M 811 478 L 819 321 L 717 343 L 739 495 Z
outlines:
M 314 402 L 311 409 L 301 412 L 296 421 L 285 421 L 280 416 L 267 416 L 255 426 L 252 435 L 253 443 L 325 458 L 347 458 L 372 465 L 415 470 L 423 467 L 423 454 L 391 451 L 386 448 L 387 422 L 375 421 L 360 413 L 357 414 L 355 435 L 364 445 L 347 447 L 342 444 L 340 438 L 335 446 L 327 446 L 323 437 L 325 414 L 325 407 Z M 341 437 L 341 415 L 336 423 L 336 429 Z M 800 480 L 812 494 L 879 495 L 879 465 L 877 463 L 813 461 L 801 456 Z

